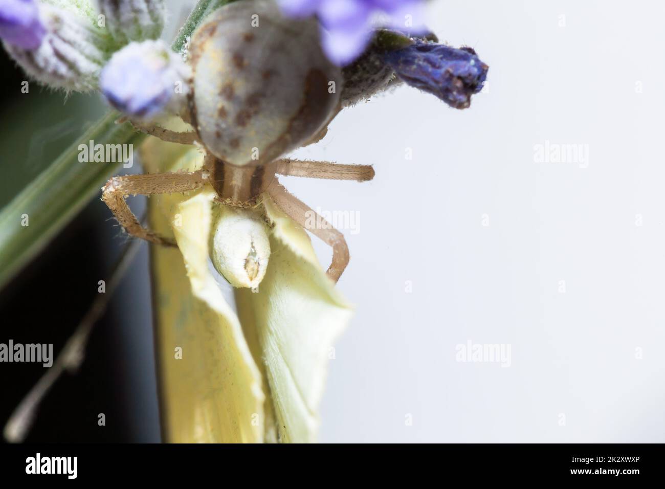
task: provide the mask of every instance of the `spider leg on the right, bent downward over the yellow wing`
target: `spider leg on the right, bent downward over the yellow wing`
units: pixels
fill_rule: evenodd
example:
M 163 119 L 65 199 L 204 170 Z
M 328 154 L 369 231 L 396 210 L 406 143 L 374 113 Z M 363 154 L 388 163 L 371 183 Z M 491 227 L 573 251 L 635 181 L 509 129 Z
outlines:
M 338 230 L 333 228 L 325 219 L 321 218 L 311 208 L 304 204 L 297 197 L 290 194 L 283 185 L 277 181 L 277 178 L 268 187 L 268 195 L 273 199 L 273 202 L 287 214 L 295 222 L 303 226 L 306 230 L 310 231 L 315 236 L 321 238 L 323 242 L 332 247 L 332 263 L 326 272 L 332 281 L 336 282 L 344 272 L 346 265 L 348 265 L 348 246 L 344 235 Z M 311 213 L 311 214 L 310 214 Z M 308 228 L 307 217 L 308 214 L 317 216 L 317 223 L 321 223 L 321 227 Z

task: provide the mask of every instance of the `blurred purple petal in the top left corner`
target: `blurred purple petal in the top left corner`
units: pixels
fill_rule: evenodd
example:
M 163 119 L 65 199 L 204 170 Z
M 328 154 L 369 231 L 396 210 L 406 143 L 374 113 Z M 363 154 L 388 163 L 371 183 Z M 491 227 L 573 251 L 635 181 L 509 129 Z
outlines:
M 0 38 L 22 49 L 37 49 L 46 34 L 36 0 L 0 2 Z

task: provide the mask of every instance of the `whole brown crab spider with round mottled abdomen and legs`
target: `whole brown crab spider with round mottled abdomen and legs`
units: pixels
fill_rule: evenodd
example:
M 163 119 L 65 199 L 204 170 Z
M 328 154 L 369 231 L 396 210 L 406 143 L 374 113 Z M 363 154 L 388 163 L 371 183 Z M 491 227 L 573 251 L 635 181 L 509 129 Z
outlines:
M 290 194 L 277 174 L 358 182 L 374 177 L 371 166 L 281 158 L 325 134 L 341 107 L 335 89 L 343 84 L 341 71 L 321 52 L 315 22 L 301 21 L 294 29 L 294 22 L 280 17 L 272 3 L 259 1 L 252 12 L 261 15 L 261 24 L 252 27 L 243 3 L 219 9 L 192 37 L 187 103 L 180 116 L 194 131 L 172 132 L 132 121 L 162 140 L 198 144 L 205 151 L 203 167 L 188 173 L 116 176 L 102 189 L 102 200 L 128 234 L 175 245 L 144 228 L 126 197 L 210 185 L 219 203 L 247 208 L 267 194 L 303 228 L 307 216 L 317 216 L 322 225 L 309 231 L 332 247 L 327 274 L 337 281 L 349 261 L 344 236 Z

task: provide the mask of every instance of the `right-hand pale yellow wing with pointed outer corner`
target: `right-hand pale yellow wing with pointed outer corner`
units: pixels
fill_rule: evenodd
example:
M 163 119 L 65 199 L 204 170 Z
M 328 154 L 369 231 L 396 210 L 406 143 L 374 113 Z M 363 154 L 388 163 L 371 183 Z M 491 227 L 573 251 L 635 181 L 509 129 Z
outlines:
M 236 289 L 245 329 L 254 329 L 265 363 L 281 442 L 314 442 L 334 341 L 352 309 L 325 275 L 303 228 L 275 207 L 271 256 L 258 292 Z

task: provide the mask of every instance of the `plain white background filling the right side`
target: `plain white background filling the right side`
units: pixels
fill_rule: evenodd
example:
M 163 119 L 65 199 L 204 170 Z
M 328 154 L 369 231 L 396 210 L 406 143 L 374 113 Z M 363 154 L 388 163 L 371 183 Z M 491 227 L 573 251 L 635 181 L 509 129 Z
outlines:
M 360 218 L 321 441 L 665 441 L 665 4 L 430 14 L 489 65 L 489 93 L 458 111 L 399 88 L 348 109 L 297 155 L 374 164 L 375 180 L 283 179 Z M 535 162 L 545 140 L 588 144 L 588 167 Z M 510 367 L 457 362 L 469 339 L 511 345 Z

